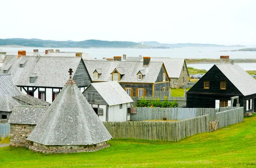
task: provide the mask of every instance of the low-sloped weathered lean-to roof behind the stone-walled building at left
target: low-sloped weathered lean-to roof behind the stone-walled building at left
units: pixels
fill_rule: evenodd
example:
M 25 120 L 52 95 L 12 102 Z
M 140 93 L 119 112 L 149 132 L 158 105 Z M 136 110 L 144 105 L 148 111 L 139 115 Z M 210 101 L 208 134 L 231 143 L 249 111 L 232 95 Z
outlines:
M 34 106 L 50 106 L 51 103 L 48 103 L 44 100 L 37 99 L 30 95 L 17 95 L 12 96 L 15 99 L 21 100 L 22 102 L 26 102 L 28 104 L 34 105 Z

